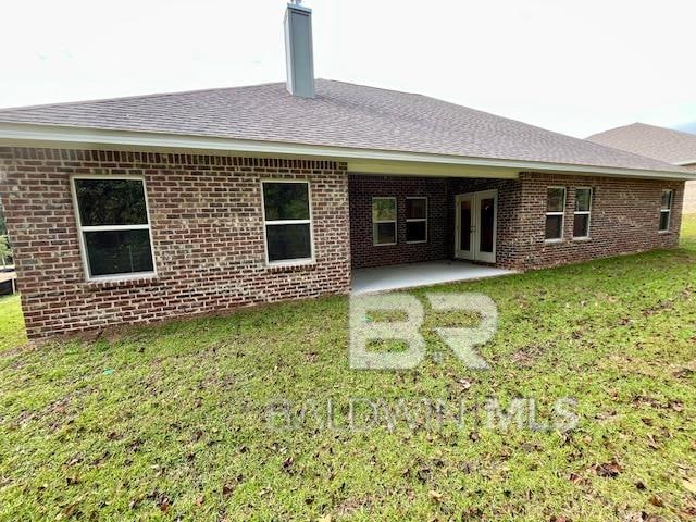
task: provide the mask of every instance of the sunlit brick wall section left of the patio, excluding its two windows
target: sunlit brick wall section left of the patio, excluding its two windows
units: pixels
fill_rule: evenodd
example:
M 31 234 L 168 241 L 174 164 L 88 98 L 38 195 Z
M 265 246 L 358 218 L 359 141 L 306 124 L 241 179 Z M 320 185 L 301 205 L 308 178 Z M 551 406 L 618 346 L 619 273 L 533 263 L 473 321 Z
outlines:
M 144 175 L 158 276 L 88 283 L 71 174 Z M 264 263 L 263 178 L 311 179 L 316 262 Z M 0 148 L 0 179 L 30 337 L 147 323 L 350 287 L 346 164 L 147 152 Z

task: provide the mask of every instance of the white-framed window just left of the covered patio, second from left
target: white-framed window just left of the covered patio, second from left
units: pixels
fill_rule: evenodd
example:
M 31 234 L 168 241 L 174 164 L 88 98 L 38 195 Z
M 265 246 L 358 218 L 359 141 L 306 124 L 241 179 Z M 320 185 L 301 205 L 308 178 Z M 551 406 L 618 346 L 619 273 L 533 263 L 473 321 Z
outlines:
M 266 261 L 312 261 L 312 217 L 308 182 L 263 182 Z

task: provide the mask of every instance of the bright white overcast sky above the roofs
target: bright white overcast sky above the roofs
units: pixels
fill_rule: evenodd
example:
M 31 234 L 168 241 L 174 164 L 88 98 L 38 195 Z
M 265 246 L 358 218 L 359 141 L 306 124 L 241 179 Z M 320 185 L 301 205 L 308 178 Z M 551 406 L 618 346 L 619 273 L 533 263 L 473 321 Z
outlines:
M 696 120 L 695 0 L 306 0 L 318 77 L 577 137 Z M 283 0 L 4 0 L 0 107 L 285 79 Z

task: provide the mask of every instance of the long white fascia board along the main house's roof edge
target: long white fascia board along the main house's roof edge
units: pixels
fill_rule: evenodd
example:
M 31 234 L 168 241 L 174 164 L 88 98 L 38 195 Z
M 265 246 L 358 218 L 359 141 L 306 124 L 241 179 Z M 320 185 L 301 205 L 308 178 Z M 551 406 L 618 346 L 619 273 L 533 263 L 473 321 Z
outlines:
M 369 160 L 385 162 L 413 162 L 421 164 L 445 164 L 509 169 L 518 172 L 552 172 L 559 174 L 608 175 L 621 177 L 696 179 L 696 173 L 679 171 L 649 171 L 539 161 L 498 160 L 469 158 L 463 156 L 431 154 L 323 145 L 288 144 L 250 139 L 189 136 L 164 133 L 112 130 L 59 125 L 34 125 L 0 123 L 0 146 L 9 147 L 57 147 L 97 148 L 121 150 L 173 150 L 191 153 L 248 154 L 274 158 L 308 158 L 350 162 Z

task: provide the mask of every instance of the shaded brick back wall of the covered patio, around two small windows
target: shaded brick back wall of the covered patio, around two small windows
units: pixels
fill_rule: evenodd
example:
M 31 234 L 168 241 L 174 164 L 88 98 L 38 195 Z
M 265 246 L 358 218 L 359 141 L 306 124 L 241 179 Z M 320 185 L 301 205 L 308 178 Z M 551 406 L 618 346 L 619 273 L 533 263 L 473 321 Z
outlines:
M 448 241 L 447 181 L 413 176 L 349 176 L 350 249 L 352 266 L 383 266 L 445 259 Z M 397 202 L 397 244 L 373 245 L 372 198 L 395 197 Z M 427 243 L 406 243 L 406 198 L 427 198 Z

